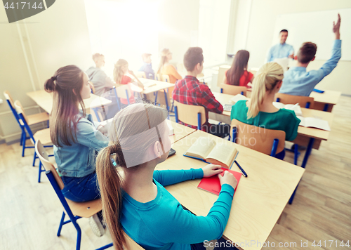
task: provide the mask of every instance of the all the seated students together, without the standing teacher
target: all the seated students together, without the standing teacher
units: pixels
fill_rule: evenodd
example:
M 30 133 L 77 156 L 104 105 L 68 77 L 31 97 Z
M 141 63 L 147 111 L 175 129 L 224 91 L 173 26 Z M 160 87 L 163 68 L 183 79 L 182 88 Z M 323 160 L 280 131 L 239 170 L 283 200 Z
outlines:
M 246 81 L 252 81 L 253 89 L 251 100 L 239 101 L 232 107 L 231 118 L 285 131 L 286 140 L 296 138 L 299 119 L 291 110 L 274 107 L 274 95 L 283 89 L 291 94 L 305 91 L 305 95 L 309 95 L 308 91 L 333 70 L 337 58 L 340 58 L 339 27 L 340 16 L 333 25 L 336 41 L 332 58 L 320 70 L 305 70 L 316 52 L 317 47 L 312 43 L 303 44 L 298 51 L 298 67 L 284 74 L 280 65 L 268 62 L 254 79 L 247 72 L 249 53 L 237 53 L 233 67 L 227 71 L 226 83 L 245 86 Z M 163 56 L 160 69 L 168 72 L 171 54 L 164 51 Z M 94 60 L 98 66 L 105 64 L 100 55 Z M 173 100 L 204 106 L 204 131 L 224 137 L 229 133 L 229 125 L 208 123 L 208 111 L 221 113 L 223 106 L 208 86 L 200 84 L 197 79 L 197 74 L 204 67 L 202 49 L 189 48 L 184 56 L 184 65 L 187 76 L 177 79 Z M 103 93 L 103 88 L 111 88 L 112 84 L 131 81 L 126 78 L 126 72 L 128 63 L 119 60 L 111 86 L 95 86 L 95 91 Z M 237 185 L 234 176 L 228 171 L 223 176 L 219 175 L 222 173 L 220 166 L 213 164 L 201 169 L 155 171 L 157 164 L 166 160 L 171 148 L 165 121 L 168 112 L 155 105 L 134 103 L 126 106 L 114 115 L 108 136 L 105 136 L 107 129 L 93 121 L 91 114 L 86 114 L 83 102 L 91 95 L 89 79 L 93 75 L 104 81 L 107 77 L 102 70 L 84 72 L 77 66 L 68 65 L 57 70 L 45 83 L 46 91 L 53 92 L 51 140 L 58 173 L 65 184 L 63 195 L 75 202 L 102 198 L 103 218 L 115 249 L 123 249 L 124 232 L 145 249 L 206 249 L 205 240 L 223 242 L 221 236 Z M 220 178 L 222 189 L 207 216 L 194 216 L 164 188 L 214 175 Z M 105 223 L 102 223 L 102 214 L 96 214 L 90 222 L 95 234 L 103 235 Z

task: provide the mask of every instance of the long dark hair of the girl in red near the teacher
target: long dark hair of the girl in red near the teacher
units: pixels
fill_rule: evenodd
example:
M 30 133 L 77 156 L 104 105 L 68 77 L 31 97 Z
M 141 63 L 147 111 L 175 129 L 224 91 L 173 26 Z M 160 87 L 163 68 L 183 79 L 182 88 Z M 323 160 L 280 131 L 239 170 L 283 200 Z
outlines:
M 247 70 L 249 58 L 249 51 L 240 50 L 235 54 L 232 67 L 227 71 L 227 84 L 239 86 L 240 78 L 244 74 L 244 71 Z M 248 77 L 249 74 L 247 74 L 246 80 L 248 80 Z

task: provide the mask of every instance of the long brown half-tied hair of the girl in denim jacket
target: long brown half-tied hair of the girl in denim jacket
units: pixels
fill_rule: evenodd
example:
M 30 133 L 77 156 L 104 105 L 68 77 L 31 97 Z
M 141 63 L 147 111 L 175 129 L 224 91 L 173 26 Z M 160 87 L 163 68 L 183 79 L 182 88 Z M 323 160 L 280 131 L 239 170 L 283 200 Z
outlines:
M 86 115 L 85 106 L 81 98 L 84 72 L 75 65 L 60 67 L 53 77 L 46 80 L 46 92 L 53 92 L 53 110 L 50 114 L 50 136 L 53 145 L 62 147 L 72 145 L 77 140 L 77 114 L 79 103 Z M 73 125 L 73 130 L 72 130 Z

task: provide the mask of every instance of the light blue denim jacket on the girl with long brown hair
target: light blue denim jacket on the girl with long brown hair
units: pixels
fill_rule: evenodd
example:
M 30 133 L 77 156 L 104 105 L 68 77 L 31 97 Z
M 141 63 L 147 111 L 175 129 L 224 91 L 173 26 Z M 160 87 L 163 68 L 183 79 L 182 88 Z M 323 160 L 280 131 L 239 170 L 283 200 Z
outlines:
M 108 145 L 108 139 L 95 129 L 91 114 L 77 124 L 77 142 L 71 146 L 53 146 L 58 173 L 68 177 L 84 177 L 95 171 L 96 152 Z M 72 125 L 73 126 L 73 125 Z

